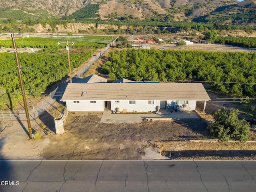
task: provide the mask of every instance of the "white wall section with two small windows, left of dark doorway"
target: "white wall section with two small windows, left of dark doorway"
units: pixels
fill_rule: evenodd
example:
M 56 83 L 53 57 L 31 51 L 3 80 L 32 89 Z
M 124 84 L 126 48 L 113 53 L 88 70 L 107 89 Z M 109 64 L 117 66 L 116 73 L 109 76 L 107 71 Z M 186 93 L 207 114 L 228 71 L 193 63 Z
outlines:
M 89 100 L 82 100 L 79 103 L 66 101 L 69 111 L 104 111 L 104 101 L 97 100 L 96 103 L 90 103 Z

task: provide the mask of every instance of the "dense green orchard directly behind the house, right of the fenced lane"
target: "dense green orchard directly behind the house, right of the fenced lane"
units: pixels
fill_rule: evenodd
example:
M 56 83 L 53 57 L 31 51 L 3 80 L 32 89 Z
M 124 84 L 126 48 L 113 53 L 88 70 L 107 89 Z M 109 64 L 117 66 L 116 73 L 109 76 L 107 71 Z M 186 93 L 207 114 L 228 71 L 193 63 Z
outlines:
M 102 67 L 116 80 L 199 80 L 237 96 L 256 93 L 256 53 L 128 49 L 112 51 Z

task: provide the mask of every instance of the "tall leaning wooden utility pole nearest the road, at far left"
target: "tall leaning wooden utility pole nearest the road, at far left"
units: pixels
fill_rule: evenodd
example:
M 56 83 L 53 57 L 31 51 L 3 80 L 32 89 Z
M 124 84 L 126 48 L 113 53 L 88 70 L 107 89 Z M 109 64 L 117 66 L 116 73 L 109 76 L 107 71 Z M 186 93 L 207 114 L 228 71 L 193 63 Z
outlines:
M 17 64 L 17 68 L 18 68 L 18 74 L 19 74 L 19 78 L 20 78 L 20 88 L 21 88 L 21 91 L 22 91 L 24 108 L 25 108 L 26 118 L 27 118 L 27 122 L 28 122 L 29 138 L 32 139 L 32 128 L 31 128 L 31 124 L 30 124 L 29 113 L 28 113 L 28 105 L 27 105 L 27 100 L 26 100 L 26 96 L 25 96 L 25 90 L 24 90 L 24 86 L 23 86 L 22 76 L 21 76 L 21 72 L 20 72 L 20 62 L 19 62 L 19 58 L 18 58 L 15 37 L 14 37 L 14 34 L 11 34 L 11 35 L 12 35 L 12 44 L 13 44 L 13 48 L 14 48 L 16 64 Z

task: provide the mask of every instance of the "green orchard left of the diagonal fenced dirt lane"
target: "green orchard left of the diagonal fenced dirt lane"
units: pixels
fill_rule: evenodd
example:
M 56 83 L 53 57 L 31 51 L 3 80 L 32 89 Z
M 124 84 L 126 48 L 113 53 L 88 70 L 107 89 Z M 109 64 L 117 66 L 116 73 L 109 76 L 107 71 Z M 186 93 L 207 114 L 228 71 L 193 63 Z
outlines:
M 86 36 L 84 38 L 105 39 L 104 36 Z M 111 40 L 111 37 L 106 37 Z M 79 39 L 80 40 L 80 39 Z M 77 68 L 88 60 L 96 48 L 103 48 L 104 43 L 76 41 L 70 45 L 71 68 Z M 28 52 L 19 53 L 22 78 L 26 94 L 40 96 L 54 82 L 61 80 L 69 74 L 68 55 L 66 43 L 58 45 L 58 39 L 26 38 L 16 39 L 18 48 L 43 48 L 34 54 Z M 0 46 L 12 46 L 11 40 L 0 42 Z M 0 54 L 0 108 L 6 104 L 9 108 L 15 107 L 18 100 L 22 100 L 20 82 L 13 53 L 2 52 Z

